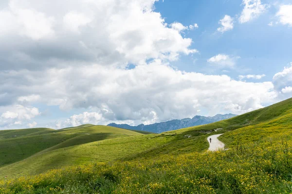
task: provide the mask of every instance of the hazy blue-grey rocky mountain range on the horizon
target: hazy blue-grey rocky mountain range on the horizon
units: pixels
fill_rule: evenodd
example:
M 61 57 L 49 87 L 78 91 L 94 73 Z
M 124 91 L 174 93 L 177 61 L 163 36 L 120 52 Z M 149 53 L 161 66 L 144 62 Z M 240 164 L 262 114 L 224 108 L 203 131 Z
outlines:
M 224 119 L 232 118 L 234 116 L 237 116 L 237 115 L 231 114 L 231 113 L 217 114 L 215 116 L 196 115 L 193 118 L 184 118 L 181 120 L 174 119 L 174 120 L 165 121 L 161 123 L 154 123 L 150 125 L 140 124 L 138 126 L 130 126 L 128 124 L 110 123 L 108 126 L 122 128 L 122 129 L 143 130 L 143 131 L 149 131 L 149 132 L 154 132 L 154 133 L 162 133 L 164 131 L 169 131 L 169 130 L 176 130 L 176 129 L 182 129 L 182 128 L 187 128 L 187 127 L 214 123 L 214 122 L 221 121 Z

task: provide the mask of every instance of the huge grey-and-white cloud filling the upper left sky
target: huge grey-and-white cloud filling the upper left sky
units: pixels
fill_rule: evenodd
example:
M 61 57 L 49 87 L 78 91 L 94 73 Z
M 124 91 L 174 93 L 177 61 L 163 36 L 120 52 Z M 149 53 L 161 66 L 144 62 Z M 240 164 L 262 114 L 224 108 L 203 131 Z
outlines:
M 7 0 L 0 8 L 0 70 L 145 65 L 197 52 L 180 28 L 198 25 L 168 27 L 155 1 Z

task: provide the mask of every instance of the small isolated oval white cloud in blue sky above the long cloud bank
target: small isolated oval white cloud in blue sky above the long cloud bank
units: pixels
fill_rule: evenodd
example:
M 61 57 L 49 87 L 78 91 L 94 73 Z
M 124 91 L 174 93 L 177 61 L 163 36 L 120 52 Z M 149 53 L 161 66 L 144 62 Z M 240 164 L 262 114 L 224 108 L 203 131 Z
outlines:
M 219 67 L 233 67 L 240 57 L 232 57 L 226 54 L 218 54 L 207 60 L 208 63 L 218 65 Z

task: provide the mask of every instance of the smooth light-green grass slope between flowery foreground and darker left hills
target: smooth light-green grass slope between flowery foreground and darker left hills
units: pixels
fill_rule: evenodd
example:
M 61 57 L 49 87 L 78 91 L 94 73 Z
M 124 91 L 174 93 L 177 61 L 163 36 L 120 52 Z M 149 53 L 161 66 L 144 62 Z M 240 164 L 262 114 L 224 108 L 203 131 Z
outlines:
M 42 154 L 0 168 L 0 177 L 38 174 L 49 169 L 105 162 L 123 158 L 170 141 L 164 136 L 130 136 L 70 146 Z

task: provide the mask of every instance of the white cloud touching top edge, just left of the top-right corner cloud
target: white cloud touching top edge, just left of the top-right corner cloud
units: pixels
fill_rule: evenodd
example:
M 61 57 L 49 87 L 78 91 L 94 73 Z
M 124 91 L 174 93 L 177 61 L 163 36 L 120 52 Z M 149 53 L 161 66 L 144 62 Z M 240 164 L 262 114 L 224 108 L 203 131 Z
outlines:
M 268 8 L 268 4 L 261 4 L 261 0 L 242 0 L 244 8 L 239 17 L 240 23 L 248 22 L 264 13 Z

